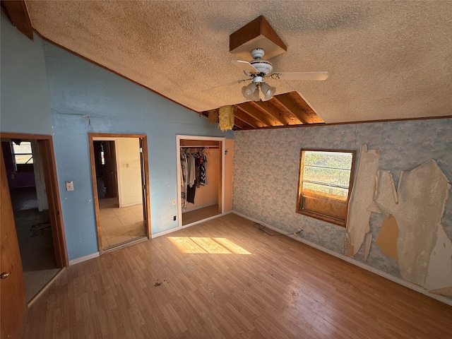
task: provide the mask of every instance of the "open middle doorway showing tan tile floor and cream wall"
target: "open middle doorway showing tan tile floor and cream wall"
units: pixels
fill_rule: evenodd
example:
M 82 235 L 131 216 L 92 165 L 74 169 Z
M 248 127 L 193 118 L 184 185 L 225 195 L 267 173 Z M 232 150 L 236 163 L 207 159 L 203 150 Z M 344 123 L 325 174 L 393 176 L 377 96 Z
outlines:
M 99 251 L 148 239 L 148 160 L 145 135 L 90 133 Z

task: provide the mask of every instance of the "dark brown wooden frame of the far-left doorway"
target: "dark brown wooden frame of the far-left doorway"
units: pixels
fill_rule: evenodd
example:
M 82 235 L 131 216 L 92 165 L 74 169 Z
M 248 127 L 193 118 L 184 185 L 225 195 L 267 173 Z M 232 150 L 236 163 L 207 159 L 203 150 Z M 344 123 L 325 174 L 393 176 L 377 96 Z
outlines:
M 50 227 L 54 244 L 55 261 L 58 268 L 68 267 L 68 251 L 66 236 L 64 234 L 63 215 L 61 213 L 61 198 L 59 195 L 57 165 L 55 162 L 54 143 L 52 136 L 28 133 L 0 133 L 1 138 L 36 140 L 40 148 L 42 168 L 44 169 L 44 182 L 49 204 Z M 9 192 L 8 192 L 9 194 Z

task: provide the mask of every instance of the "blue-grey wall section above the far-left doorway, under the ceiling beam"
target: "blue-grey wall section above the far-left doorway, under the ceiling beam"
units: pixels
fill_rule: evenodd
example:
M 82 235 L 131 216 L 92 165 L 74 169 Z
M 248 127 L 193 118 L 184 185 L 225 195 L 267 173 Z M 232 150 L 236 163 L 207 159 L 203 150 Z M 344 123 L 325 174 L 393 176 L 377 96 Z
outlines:
M 52 134 L 42 41 L 31 41 L 1 12 L 1 107 L 4 132 Z

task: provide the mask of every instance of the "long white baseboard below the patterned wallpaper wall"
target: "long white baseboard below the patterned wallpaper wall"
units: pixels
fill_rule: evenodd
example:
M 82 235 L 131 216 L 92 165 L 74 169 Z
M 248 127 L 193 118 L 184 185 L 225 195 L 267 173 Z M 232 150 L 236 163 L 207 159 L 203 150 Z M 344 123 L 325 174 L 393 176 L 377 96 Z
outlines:
M 280 230 L 278 227 L 274 227 L 272 225 L 268 225 L 265 222 L 261 222 L 260 220 L 254 219 L 249 217 L 248 215 L 244 215 L 242 213 L 239 213 L 235 210 L 232 210 L 232 213 L 240 215 L 241 217 L 254 221 L 254 222 L 258 222 L 261 225 L 264 225 L 265 227 L 270 228 L 270 230 L 273 230 L 275 232 L 279 232 L 279 233 L 287 233 L 283 230 Z M 436 299 L 439 302 L 444 302 L 444 304 L 448 304 L 450 306 L 452 306 L 452 300 L 448 299 L 446 297 L 443 297 L 441 295 L 434 295 L 433 293 L 428 292 L 427 290 L 424 290 L 422 287 L 419 287 L 417 285 L 414 285 L 412 283 L 408 283 L 408 281 L 405 281 L 403 279 L 397 278 L 391 274 L 388 274 L 386 272 L 383 272 L 382 270 L 378 270 L 374 267 L 371 267 L 369 265 L 366 265 L 365 263 L 362 263 L 361 261 L 357 261 L 354 258 L 351 258 L 350 256 L 344 256 L 343 254 L 337 253 L 335 251 L 331 251 L 331 249 L 326 249 L 325 247 L 322 247 L 318 244 L 314 244 L 314 242 L 309 242 L 306 239 L 303 239 L 302 237 L 296 237 L 295 235 L 288 235 L 287 237 L 291 237 L 292 239 L 298 240 L 299 242 L 302 242 L 303 244 L 307 244 L 308 246 L 314 247 L 314 249 L 319 249 L 320 251 L 323 251 L 325 253 L 331 254 L 332 256 L 335 256 L 336 258 L 340 258 L 343 261 L 347 261 L 347 263 L 352 263 L 355 266 L 358 266 L 360 268 L 364 268 L 364 270 L 369 270 L 372 273 L 375 273 L 376 275 L 380 275 L 383 278 L 386 278 L 388 280 L 393 281 L 394 283 L 398 283 L 399 285 L 408 287 L 410 290 L 415 290 L 416 292 L 420 292 L 423 295 L 427 295 L 427 297 L 431 297 L 432 299 Z

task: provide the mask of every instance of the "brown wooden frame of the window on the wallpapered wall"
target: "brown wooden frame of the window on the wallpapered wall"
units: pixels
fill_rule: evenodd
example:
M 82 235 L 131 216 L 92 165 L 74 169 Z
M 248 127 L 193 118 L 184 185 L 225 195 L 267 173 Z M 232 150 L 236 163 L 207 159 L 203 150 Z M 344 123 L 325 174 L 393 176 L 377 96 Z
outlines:
M 321 213 L 314 212 L 312 210 L 303 209 L 301 205 L 302 203 L 302 186 L 303 186 L 303 169 L 304 169 L 304 152 L 330 152 L 330 153 L 351 153 L 352 154 L 352 165 L 350 167 L 350 182 L 348 185 L 348 194 L 346 199 L 347 208 L 345 210 L 345 220 L 340 220 L 338 218 L 334 218 L 331 215 L 324 215 Z M 302 148 L 299 152 L 299 168 L 298 168 L 298 186 L 297 186 L 297 206 L 296 213 L 307 215 L 311 218 L 316 218 L 319 220 L 323 220 L 325 222 L 330 222 L 334 225 L 339 225 L 342 227 L 347 227 L 347 216 L 348 209 L 350 207 L 350 196 L 352 194 L 353 182 L 355 181 L 355 165 L 356 165 L 356 150 L 332 150 L 332 149 L 318 149 L 318 148 Z M 329 168 L 329 167 L 325 167 Z

